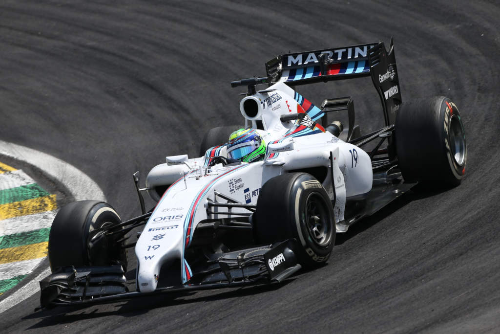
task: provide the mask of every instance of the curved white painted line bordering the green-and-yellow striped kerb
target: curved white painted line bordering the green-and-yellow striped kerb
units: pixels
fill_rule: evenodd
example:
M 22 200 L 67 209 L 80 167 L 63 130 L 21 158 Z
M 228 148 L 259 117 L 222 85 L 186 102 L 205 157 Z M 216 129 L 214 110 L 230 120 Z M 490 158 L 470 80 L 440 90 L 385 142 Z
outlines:
M 106 201 L 104 193 L 99 186 L 85 173 L 57 159 L 49 154 L 33 150 L 17 144 L 7 143 L 0 140 L 0 154 L 24 161 L 41 169 L 48 176 L 58 180 L 71 192 L 74 199 L 95 199 Z M 3 225 L 3 224 L 2 224 Z M 1 228 L 1 226 L 0 226 Z M 34 229 L 34 228 L 33 228 Z M 0 238 L 4 231 L 0 231 Z M 10 234 L 10 233 L 9 233 Z M 40 287 L 38 281 L 50 273 L 50 268 L 44 269 L 33 280 L 23 285 L 17 291 L 0 301 L 0 313 L 23 301 L 33 293 L 38 292 Z

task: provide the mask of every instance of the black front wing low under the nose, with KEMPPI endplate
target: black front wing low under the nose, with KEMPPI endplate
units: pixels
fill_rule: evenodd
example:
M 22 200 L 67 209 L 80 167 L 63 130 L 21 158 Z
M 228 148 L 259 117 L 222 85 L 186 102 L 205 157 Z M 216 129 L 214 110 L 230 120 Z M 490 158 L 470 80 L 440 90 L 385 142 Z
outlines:
M 184 285 L 159 287 L 150 293 L 128 292 L 120 265 L 63 267 L 40 281 L 40 306 L 108 302 L 161 292 L 203 290 L 280 282 L 301 268 L 294 239 L 268 246 L 214 254 L 201 268 L 193 268 Z

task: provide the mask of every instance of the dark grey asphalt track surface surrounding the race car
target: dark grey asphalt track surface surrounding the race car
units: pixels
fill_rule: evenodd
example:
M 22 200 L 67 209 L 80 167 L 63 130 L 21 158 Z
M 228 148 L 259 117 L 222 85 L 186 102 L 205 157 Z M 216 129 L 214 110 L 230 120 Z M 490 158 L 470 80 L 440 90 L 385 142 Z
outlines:
M 131 173 L 195 156 L 207 129 L 238 124 L 243 90 L 229 82 L 289 50 L 392 36 L 403 99 L 450 96 L 468 156 L 459 187 L 400 197 L 339 236 L 327 266 L 280 286 L 36 313 L 33 295 L 0 330 L 497 332 L 498 17 L 494 1 L 3 0 L 0 139 L 81 169 L 122 217 L 139 213 Z M 369 79 L 298 90 L 316 104 L 350 95 L 361 131 L 382 125 Z

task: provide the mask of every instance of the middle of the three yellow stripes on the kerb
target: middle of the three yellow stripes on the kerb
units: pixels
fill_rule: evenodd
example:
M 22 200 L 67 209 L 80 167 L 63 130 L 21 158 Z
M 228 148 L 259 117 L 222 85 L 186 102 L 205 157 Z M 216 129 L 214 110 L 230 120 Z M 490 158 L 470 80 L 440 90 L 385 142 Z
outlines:
M 0 220 L 12 217 L 25 216 L 57 208 L 55 195 L 42 196 L 25 201 L 0 205 Z

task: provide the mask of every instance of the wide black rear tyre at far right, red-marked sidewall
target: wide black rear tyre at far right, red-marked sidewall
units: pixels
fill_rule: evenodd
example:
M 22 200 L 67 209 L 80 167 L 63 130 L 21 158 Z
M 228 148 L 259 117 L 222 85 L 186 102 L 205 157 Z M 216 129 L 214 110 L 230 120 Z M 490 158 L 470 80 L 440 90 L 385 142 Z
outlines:
M 405 181 L 460 184 L 467 145 L 456 105 L 444 96 L 403 103 L 396 116 L 395 144 Z

